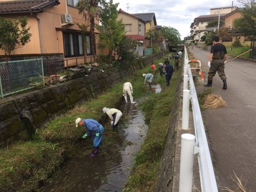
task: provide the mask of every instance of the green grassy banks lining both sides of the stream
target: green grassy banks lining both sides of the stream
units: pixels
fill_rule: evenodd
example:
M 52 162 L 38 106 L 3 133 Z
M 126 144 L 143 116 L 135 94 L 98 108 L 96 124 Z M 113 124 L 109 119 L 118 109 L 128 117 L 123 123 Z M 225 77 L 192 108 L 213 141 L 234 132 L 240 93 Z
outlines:
M 156 67 L 159 62 L 164 63 L 164 58 L 154 61 Z M 162 92 L 149 94 L 149 86 L 144 84 L 142 74 L 150 72 L 150 66 L 147 66 L 124 79 L 124 82 L 132 82 L 135 101 L 138 98 L 146 98 L 141 101 L 142 103 L 138 103 L 138 106 L 144 111 L 146 123 L 149 125 L 147 137 L 135 158 L 136 162 L 124 191 L 154 191 L 167 137 L 169 113 L 179 72 L 174 72 L 170 86 L 167 87 L 165 78 L 159 76 L 157 71 L 153 84 L 160 84 Z M 122 100 L 124 82 L 116 84 L 97 99 L 82 103 L 64 115 L 56 117 L 44 128 L 36 131 L 33 141 L 19 142 L 1 149 L 0 191 L 39 191 L 41 184 L 59 169 L 65 159 L 87 156 L 92 151 L 92 141 L 81 139 L 85 129 L 75 128 L 74 121 L 77 117 L 94 118 L 103 123 L 105 132 L 112 132 L 110 125 L 104 123 L 102 107 L 117 107 L 117 100 Z M 113 134 L 102 140 L 103 155 L 109 155 L 108 148 L 113 148 L 109 146 L 114 145 L 116 137 L 117 134 Z

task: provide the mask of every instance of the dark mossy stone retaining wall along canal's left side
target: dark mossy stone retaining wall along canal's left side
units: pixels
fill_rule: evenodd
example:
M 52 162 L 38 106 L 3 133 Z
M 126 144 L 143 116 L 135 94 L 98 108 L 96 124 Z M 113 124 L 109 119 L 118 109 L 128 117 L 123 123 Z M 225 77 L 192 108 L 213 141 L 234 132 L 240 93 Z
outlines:
M 33 136 L 56 113 L 73 108 L 79 101 L 88 101 L 102 94 L 110 86 L 131 76 L 134 71 L 150 65 L 164 54 L 139 59 L 134 65 L 121 65 L 93 71 L 89 76 L 72 79 L 26 94 L 9 96 L 0 100 L 0 147 Z

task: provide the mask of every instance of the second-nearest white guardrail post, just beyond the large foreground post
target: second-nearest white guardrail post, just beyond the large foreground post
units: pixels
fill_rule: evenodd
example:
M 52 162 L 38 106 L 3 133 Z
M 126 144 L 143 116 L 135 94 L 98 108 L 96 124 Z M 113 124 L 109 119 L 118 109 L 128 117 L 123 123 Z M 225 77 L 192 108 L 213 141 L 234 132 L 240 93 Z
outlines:
M 182 128 L 189 128 L 189 90 L 183 90 L 182 102 Z

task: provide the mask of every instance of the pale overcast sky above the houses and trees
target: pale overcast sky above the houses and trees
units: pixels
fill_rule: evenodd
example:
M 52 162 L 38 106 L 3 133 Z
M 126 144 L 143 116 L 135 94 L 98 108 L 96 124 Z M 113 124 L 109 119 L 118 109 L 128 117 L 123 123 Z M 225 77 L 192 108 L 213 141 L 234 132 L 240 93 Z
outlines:
M 113 0 L 117 9 L 129 14 L 154 13 L 157 25 L 177 29 L 181 38 L 190 34 L 190 24 L 197 16 L 210 14 L 210 9 L 238 6 L 237 0 Z

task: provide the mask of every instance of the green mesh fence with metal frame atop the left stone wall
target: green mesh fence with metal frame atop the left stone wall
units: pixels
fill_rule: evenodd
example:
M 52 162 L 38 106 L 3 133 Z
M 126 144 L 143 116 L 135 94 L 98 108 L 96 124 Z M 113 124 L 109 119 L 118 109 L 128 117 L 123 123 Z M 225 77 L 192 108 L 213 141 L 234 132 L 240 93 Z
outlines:
M 1 98 L 35 86 L 44 86 L 43 59 L 0 62 Z

